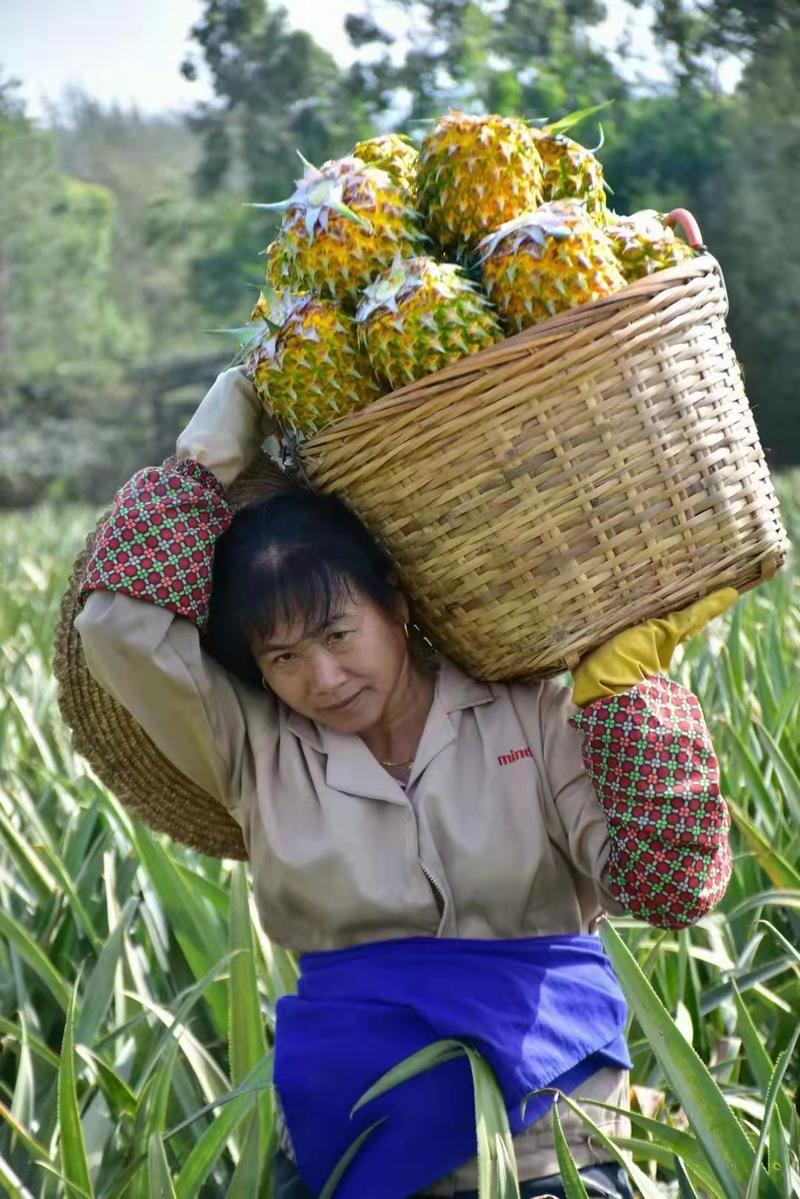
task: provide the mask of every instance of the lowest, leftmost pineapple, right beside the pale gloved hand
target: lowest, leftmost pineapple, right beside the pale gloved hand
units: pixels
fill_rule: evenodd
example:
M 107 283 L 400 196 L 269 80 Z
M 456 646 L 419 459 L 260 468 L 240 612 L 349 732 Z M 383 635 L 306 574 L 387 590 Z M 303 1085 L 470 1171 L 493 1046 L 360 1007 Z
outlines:
M 255 311 L 266 318 L 245 360 L 261 403 L 303 436 L 380 396 L 355 323 L 332 300 L 283 297 Z M 278 326 L 271 318 L 278 315 Z

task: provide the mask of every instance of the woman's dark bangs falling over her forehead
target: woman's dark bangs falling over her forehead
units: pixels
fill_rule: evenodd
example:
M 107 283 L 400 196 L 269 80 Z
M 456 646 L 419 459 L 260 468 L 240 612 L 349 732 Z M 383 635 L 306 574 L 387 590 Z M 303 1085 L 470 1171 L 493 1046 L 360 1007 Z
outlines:
M 240 631 L 261 645 L 277 629 L 291 629 L 293 638 L 317 637 L 354 600 L 347 576 L 311 548 L 270 548 L 248 565 L 242 583 Z

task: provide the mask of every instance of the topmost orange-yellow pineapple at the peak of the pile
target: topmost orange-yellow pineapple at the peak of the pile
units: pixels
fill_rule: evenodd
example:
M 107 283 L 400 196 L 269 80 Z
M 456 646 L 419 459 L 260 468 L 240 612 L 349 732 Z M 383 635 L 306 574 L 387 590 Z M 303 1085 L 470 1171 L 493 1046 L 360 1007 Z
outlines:
M 451 109 L 422 143 L 420 209 L 445 253 L 465 257 L 501 222 L 536 207 L 541 189 L 534 131 L 513 116 Z

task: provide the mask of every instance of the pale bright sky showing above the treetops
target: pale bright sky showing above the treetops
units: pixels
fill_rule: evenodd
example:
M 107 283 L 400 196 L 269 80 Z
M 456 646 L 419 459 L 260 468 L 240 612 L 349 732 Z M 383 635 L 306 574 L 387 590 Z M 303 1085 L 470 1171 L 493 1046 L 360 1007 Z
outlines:
M 290 23 L 311 30 L 342 62 L 353 56 L 344 16 L 366 4 L 284 0 Z M 373 13 L 380 7 L 379 0 L 369 4 Z M 143 113 L 186 110 L 211 97 L 205 74 L 188 83 L 179 72 L 201 11 L 201 0 L 0 0 L 0 67 L 22 80 L 28 113 L 37 119 L 46 100 L 58 102 L 70 86 Z M 607 0 L 607 11 L 603 40 L 614 44 L 630 22 L 636 53 L 655 70 L 645 14 L 631 14 L 622 0 Z

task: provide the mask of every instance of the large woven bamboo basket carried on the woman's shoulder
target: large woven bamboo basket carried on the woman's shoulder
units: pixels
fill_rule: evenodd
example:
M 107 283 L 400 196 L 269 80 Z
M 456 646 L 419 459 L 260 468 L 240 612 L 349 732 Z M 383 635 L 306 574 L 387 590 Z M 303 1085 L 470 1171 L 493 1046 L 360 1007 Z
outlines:
M 570 669 L 786 558 L 727 308 L 702 253 L 335 422 L 300 466 L 386 546 L 470 674 Z

